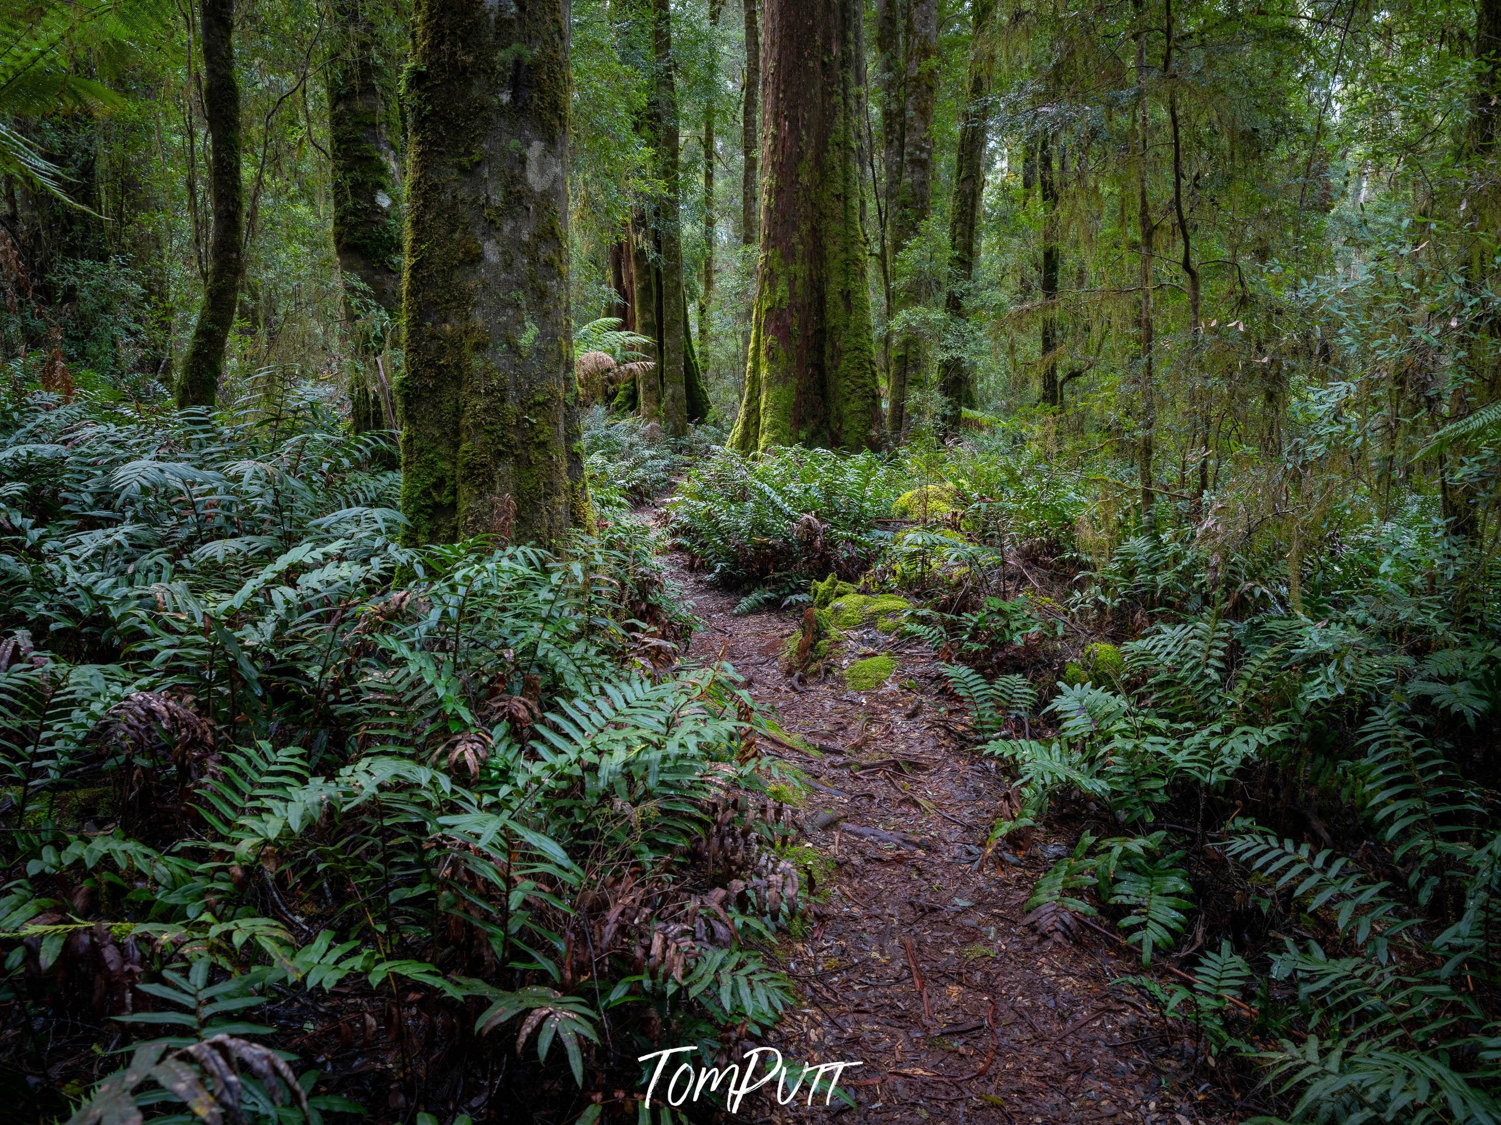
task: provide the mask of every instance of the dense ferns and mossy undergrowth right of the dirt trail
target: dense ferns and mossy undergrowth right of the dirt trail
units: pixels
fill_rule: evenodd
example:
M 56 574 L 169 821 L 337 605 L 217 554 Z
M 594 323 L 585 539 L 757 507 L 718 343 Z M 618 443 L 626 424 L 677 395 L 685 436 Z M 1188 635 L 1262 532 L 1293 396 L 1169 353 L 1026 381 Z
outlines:
M 1204 1071 L 1292 1120 L 1501 1120 L 1501 572 L 1358 495 L 1289 562 L 1247 488 L 1144 519 L 1001 435 L 720 456 L 669 507 L 747 609 L 829 573 L 922 602 L 1013 777 L 992 855 L 1072 832 L 1028 922 L 1133 946 Z

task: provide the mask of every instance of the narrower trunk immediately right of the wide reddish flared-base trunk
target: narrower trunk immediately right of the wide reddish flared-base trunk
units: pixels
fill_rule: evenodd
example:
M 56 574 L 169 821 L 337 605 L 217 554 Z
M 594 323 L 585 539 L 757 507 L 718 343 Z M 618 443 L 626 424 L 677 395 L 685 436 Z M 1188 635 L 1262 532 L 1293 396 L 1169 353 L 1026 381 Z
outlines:
M 902 124 L 902 176 L 892 198 L 892 262 L 907 249 L 928 219 L 932 201 L 934 106 L 938 102 L 938 0 L 911 0 L 907 9 L 907 94 Z M 895 315 L 920 302 L 917 280 L 908 278 L 893 286 Z M 911 332 L 896 338 L 892 350 L 892 404 L 887 429 L 893 441 L 907 435 L 907 388 L 920 382 L 923 342 Z

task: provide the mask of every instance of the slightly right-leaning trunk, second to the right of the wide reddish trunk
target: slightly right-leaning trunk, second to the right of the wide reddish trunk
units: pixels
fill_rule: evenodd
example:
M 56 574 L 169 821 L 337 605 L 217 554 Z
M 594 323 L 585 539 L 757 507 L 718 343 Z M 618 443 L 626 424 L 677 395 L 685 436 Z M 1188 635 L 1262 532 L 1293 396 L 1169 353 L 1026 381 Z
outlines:
M 995 75 L 995 40 L 991 15 L 995 0 L 974 0 L 974 32 L 970 44 L 970 93 L 959 120 L 959 152 L 955 156 L 953 195 L 949 206 L 949 288 L 944 312 L 955 327 L 965 318 L 965 296 L 974 279 L 979 250 L 980 196 L 985 192 L 985 142 L 989 130 L 991 80 Z M 943 418 L 950 435 L 959 428 L 964 408 L 974 402 L 974 375 L 964 356 L 953 354 L 943 369 Z

